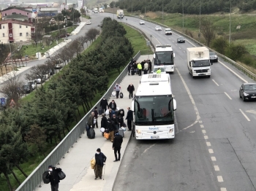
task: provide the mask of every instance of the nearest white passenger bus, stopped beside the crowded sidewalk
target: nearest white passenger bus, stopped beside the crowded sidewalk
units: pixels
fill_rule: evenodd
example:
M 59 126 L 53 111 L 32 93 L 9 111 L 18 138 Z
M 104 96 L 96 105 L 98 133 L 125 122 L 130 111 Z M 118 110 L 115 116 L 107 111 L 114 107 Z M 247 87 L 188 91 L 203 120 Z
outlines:
M 136 139 L 173 139 L 176 100 L 169 74 L 144 74 L 132 101 Z

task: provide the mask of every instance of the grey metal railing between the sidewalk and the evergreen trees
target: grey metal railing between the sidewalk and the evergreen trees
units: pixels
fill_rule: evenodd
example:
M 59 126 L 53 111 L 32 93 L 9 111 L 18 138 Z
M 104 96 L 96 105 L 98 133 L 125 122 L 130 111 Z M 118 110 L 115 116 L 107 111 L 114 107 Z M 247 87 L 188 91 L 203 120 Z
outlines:
M 134 59 L 138 60 L 140 57 L 140 52 L 135 55 Z M 124 79 L 124 77 L 127 75 L 128 71 L 128 65 L 124 68 L 124 70 L 119 74 L 119 76 L 116 78 L 115 82 L 113 82 L 112 85 L 108 88 L 105 95 L 102 96 L 102 98 L 110 98 L 114 86 L 116 85 L 116 82 L 121 83 L 121 81 Z M 41 187 L 42 182 L 42 174 L 48 169 L 48 165 L 53 164 L 59 164 L 59 161 L 61 158 L 64 158 L 66 153 L 69 152 L 69 149 L 73 147 L 73 144 L 75 144 L 79 138 L 81 138 L 81 135 L 84 133 L 86 129 L 86 122 L 88 121 L 89 115 L 94 110 L 95 106 L 99 107 L 100 101 L 102 98 L 95 104 L 92 109 L 83 117 L 80 122 L 78 122 L 77 125 L 75 125 L 72 130 L 67 134 L 67 136 L 64 137 L 64 139 L 53 149 L 50 154 L 45 157 L 45 160 L 40 163 L 37 168 L 34 169 L 34 171 L 25 179 L 25 181 L 20 184 L 20 186 L 16 189 L 16 191 L 29 191 L 29 190 L 35 190 L 36 187 Z

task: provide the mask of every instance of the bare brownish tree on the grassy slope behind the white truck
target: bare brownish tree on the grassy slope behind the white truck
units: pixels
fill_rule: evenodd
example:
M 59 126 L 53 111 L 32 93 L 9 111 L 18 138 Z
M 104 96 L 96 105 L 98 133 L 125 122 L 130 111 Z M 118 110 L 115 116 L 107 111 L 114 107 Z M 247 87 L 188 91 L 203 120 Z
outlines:
M 215 39 L 214 23 L 212 23 L 207 17 L 203 17 L 201 19 L 200 31 L 202 32 L 203 37 L 206 39 L 207 46 L 209 46 L 211 41 Z

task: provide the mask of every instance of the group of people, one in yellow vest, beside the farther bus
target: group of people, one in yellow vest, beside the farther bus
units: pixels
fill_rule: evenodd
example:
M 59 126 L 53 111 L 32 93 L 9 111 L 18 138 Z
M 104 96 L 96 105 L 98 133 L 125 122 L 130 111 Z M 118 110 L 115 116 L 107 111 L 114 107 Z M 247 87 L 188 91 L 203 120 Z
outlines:
M 132 58 L 128 66 L 128 75 L 134 75 L 136 73 L 141 76 L 142 71 L 144 72 L 144 74 L 148 74 L 149 71 L 152 71 L 151 61 L 144 60 L 141 63 L 136 63 L 136 61 Z

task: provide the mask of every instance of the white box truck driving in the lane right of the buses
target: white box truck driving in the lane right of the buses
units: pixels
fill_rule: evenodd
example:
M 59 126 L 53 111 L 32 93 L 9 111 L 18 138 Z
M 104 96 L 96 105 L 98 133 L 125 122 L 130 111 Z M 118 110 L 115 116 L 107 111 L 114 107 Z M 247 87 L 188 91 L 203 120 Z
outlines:
M 210 55 L 207 47 L 187 48 L 187 67 L 192 77 L 211 77 Z

